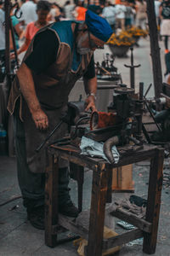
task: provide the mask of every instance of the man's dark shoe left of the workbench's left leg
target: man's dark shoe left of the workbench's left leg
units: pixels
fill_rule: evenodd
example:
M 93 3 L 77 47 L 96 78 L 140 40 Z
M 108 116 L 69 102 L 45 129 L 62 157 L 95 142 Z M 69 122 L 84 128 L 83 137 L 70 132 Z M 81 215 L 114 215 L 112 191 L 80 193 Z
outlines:
M 35 207 L 31 211 L 27 210 L 27 218 L 31 225 L 38 230 L 45 230 L 44 224 L 44 206 Z

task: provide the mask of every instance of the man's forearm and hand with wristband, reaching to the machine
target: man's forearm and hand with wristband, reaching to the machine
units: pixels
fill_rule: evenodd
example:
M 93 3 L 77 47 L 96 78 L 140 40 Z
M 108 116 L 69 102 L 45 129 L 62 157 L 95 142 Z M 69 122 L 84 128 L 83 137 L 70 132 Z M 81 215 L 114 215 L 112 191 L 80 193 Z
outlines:
M 86 99 L 87 107 L 85 111 L 88 111 L 88 109 L 92 109 L 92 111 L 96 111 L 95 107 L 95 95 L 97 91 L 97 79 L 94 77 L 94 79 L 84 79 L 84 89 L 86 91 L 86 94 L 88 95 Z

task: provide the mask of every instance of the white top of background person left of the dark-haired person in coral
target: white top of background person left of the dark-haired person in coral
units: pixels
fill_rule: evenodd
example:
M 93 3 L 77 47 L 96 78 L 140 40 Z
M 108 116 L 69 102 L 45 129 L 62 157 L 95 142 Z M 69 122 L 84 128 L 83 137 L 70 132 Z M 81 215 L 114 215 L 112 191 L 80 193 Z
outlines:
M 37 20 L 37 4 L 33 3 L 32 1 L 28 1 L 23 3 L 20 7 L 20 11 L 22 12 L 22 16 L 20 20 L 25 20 L 26 25 L 32 21 Z

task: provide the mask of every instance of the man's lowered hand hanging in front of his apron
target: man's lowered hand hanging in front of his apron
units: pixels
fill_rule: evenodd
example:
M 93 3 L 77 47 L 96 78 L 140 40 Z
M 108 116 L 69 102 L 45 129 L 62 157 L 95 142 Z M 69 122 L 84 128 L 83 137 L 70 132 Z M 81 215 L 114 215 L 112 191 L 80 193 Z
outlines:
M 42 109 L 38 109 L 37 111 L 32 112 L 31 115 L 37 129 L 48 129 L 48 116 L 42 111 Z

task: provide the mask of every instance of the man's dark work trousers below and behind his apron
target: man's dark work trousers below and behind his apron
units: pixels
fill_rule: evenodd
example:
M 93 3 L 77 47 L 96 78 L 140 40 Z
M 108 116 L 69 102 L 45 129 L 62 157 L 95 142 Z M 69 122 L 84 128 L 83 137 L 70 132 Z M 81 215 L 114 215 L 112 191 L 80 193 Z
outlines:
M 29 210 L 44 205 L 45 173 L 31 172 L 26 162 L 26 139 L 24 125 L 18 111 L 14 113 L 15 149 L 17 158 L 18 181 L 23 204 Z M 59 168 L 59 205 L 71 201 L 68 189 L 68 167 Z

